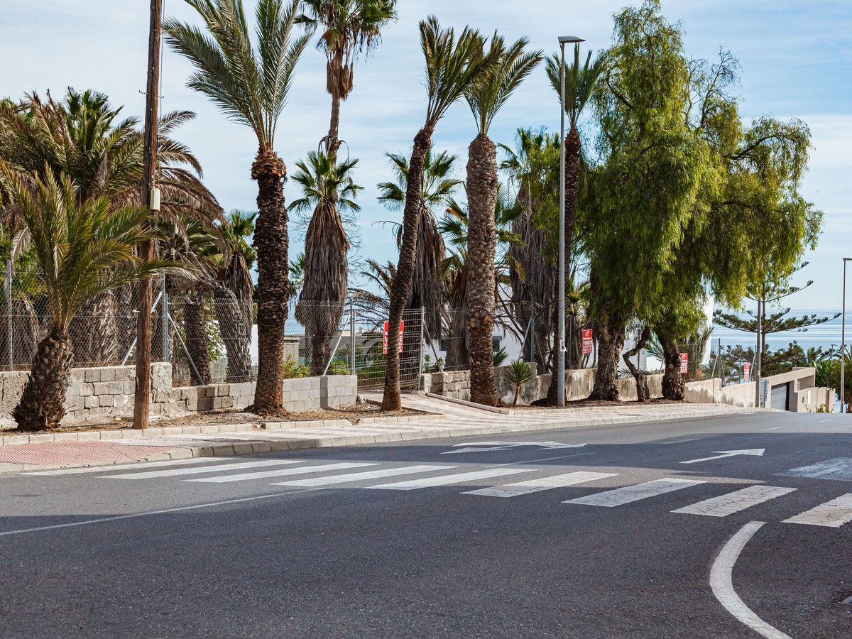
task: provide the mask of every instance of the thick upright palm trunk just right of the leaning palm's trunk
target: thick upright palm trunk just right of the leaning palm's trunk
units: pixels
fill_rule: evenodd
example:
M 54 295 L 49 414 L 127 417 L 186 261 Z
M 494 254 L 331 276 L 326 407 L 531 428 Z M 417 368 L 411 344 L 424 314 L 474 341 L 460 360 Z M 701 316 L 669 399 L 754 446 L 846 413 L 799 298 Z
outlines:
M 494 380 L 494 305 L 496 286 L 494 208 L 497 204 L 497 147 L 477 135 L 468 156 L 468 348 L 470 400 L 497 406 Z

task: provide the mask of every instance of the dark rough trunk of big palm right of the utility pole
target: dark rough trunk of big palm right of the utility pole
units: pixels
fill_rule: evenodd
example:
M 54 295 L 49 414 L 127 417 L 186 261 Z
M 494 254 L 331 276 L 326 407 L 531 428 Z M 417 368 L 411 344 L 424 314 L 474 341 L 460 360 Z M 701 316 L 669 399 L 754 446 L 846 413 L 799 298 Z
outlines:
M 289 287 L 284 162 L 269 149 L 257 153 L 251 177 L 257 181 L 257 352 L 258 370 L 252 412 L 279 415 L 284 410 L 284 331 Z

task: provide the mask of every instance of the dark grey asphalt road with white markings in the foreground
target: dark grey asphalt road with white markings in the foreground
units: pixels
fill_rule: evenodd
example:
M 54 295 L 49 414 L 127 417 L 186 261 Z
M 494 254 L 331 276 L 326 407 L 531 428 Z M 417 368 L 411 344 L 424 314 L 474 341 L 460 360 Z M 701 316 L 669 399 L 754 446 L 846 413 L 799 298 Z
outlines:
M 757 637 L 711 573 L 760 521 L 734 597 L 852 637 L 852 523 L 785 522 L 849 481 L 852 419 L 781 413 L 0 475 L 0 636 Z

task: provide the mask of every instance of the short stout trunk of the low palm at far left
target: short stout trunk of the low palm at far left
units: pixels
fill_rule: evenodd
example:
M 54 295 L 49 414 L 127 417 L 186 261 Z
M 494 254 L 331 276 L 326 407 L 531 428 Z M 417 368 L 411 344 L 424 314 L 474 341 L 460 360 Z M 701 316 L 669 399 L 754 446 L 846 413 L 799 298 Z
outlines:
M 65 395 L 73 361 L 71 335 L 67 329 L 54 327 L 38 344 L 24 393 L 12 411 L 18 429 L 59 428 L 65 417 Z

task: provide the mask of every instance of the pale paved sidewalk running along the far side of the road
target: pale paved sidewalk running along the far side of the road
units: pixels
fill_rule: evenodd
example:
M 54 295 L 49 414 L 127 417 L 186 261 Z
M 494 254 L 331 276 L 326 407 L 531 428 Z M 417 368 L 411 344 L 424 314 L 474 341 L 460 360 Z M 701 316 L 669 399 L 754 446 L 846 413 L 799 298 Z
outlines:
M 368 399 L 375 397 L 367 395 Z M 155 462 L 168 459 L 239 455 L 383 444 L 439 437 L 471 437 L 527 430 L 562 429 L 616 423 L 638 423 L 695 417 L 737 416 L 765 409 L 717 404 L 652 404 L 624 408 L 493 412 L 467 402 L 423 395 L 403 396 L 406 408 L 435 413 L 423 416 L 376 417 L 353 424 L 268 422 L 263 428 L 246 424 L 90 431 L 57 435 L 5 435 L 0 446 L 0 473 Z

